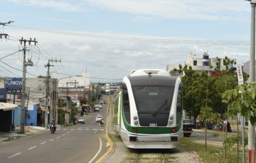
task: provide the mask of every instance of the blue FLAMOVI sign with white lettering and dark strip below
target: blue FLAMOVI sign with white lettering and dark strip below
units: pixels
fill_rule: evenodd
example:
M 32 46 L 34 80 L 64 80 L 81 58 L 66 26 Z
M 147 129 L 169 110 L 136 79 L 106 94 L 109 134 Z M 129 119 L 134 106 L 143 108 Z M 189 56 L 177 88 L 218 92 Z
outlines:
M 21 94 L 22 78 L 5 78 L 4 88 L 7 89 L 7 94 Z

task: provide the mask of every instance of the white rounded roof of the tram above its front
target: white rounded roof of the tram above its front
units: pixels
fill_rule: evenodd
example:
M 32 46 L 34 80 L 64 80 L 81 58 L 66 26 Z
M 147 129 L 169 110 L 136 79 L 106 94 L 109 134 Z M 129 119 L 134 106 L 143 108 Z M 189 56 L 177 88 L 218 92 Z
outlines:
M 167 71 L 163 69 L 139 69 L 139 70 L 131 71 L 129 76 L 133 77 L 133 76 L 148 76 L 148 75 L 171 76 Z

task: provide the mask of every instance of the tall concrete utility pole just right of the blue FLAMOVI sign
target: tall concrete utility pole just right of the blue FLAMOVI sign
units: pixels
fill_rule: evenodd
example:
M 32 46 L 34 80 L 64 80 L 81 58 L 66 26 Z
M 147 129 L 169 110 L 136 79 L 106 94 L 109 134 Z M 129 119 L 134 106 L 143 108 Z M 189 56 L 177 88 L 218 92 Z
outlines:
M 33 62 L 31 60 L 28 60 L 28 62 L 26 62 L 26 42 L 29 42 L 29 45 L 31 44 L 31 42 L 34 42 L 35 45 L 37 45 L 37 41 L 36 39 L 34 39 L 34 41 L 32 41 L 32 39 L 30 38 L 30 40 L 23 40 L 23 37 L 21 37 L 20 44 L 22 45 L 22 43 L 24 43 L 23 45 L 23 75 L 22 75 L 22 96 L 21 96 L 21 118 L 20 118 L 20 132 L 21 133 L 25 133 L 25 86 L 26 86 L 26 66 L 33 66 Z

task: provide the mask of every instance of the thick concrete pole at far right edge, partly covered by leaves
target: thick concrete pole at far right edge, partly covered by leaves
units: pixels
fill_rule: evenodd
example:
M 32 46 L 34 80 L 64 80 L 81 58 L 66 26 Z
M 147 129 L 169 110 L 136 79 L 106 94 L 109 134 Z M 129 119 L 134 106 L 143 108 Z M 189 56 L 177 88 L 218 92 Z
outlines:
M 251 1 L 252 6 L 252 16 L 251 16 L 251 49 L 250 49 L 250 79 L 249 82 L 255 81 L 255 6 L 256 0 L 248 0 Z M 254 147 L 255 142 L 255 125 L 252 125 L 251 122 L 248 122 L 248 149 L 252 149 Z

